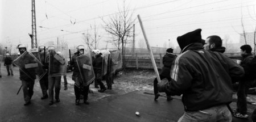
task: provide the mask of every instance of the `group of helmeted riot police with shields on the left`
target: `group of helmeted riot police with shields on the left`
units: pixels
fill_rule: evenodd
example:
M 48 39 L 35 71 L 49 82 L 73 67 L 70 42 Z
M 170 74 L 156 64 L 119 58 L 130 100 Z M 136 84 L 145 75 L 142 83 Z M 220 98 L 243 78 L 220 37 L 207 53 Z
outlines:
M 21 54 L 21 57 L 18 57 L 19 60 L 26 60 L 25 62 L 27 62 L 22 64 L 14 60 L 14 64 L 19 67 L 20 80 L 22 81 L 22 90 L 25 101 L 24 106 L 27 106 L 31 103 L 31 97 L 34 93 L 33 89 L 36 74 L 43 74 L 42 77 L 39 76 L 39 83 L 42 89 L 41 99 L 49 98 L 49 106 L 51 106 L 55 102 L 60 102 L 59 95 L 62 75 L 64 77 L 64 90 L 68 89 L 67 75 L 65 74 L 64 70 L 61 70 L 67 68 L 67 62 L 65 61 L 65 58 L 64 56 L 62 56 L 61 52 L 56 52 L 55 48 L 52 46 L 48 47 L 48 51 L 46 51 L 46 48 L 41 46 L 39 47 L 39 52 L 36 53 L 39 55 L 38 57 L 28 58 L 33 57 L 33 54 L 27 53 L 27 48 L 24 45 L 18 45 L 18 49 Z M 25 52 L 26 54 L 23 54 Z M 59 57 L 57 57 L 56 54 Z M 104 83 L 102 83 L 102 78 L 104 77 L 106 79 L 106 85 L 108 86 L 108 89 L 112 89 L 114 73 L 110 73 L 113 69 L 113 65 L 110 65 L 112 63 L 110 62 L 111 60 L 109 58 L 109 54 L 110 52 L 108 54 L 105 54 L 105 56 L 108 57 L 106 59 L 108 59 L 109 62 L 108 66 L 105 66 L 105 68 L 108 68 L 108 71 L 105 74 L 103 74 L 102 70 L 104 69 L 103 62 L 105 61 L 105 58 L 102 58 L 102 53 L 99 50 L 97 50 L 93 52 L 94 56 L 90 56 L 90 54 L 85 54 L 85 49 L 83 46 L 80 45 L 79 47 L 77 47 L 77 52 L 72 56 L 70 61 L 70 64 L 73 69 L 72 80 L 75 81 L 74 91 L 76 96 L 76 105 L 80 104 L 80 99 L 84 99 L 84 103 L 89 104 L 89 86 L 93 83 L 93 81 L 94 86 L 96 88 L 98 88 L 97 85 L 100 85 L 100 90 L 98 91 L 104 92 L 106 90 Z M 34 60 L 34 62 L 27 60 Z M 26 65 L 28 66 L 28 64 L 35 63 L 36 61 L 40 61 L 37 63 L 41 63 L 42 67 L 36 66 L 36 68 L 34 69 L 25 68 Z M 61 64 L 61 62 L 63 62 L 63 64 Z M 10 65 L 12 64 L 13 60 L 11 60 L 9 55 L 6 54 L 5 65 L 8 71 L 8 75 L 10 75 L 9 69 L 11 69 Z M 86 68 L 84 68 L 85 65 L 87 66 Z M 38 73 L 39 70 L 37 68 L 41 68 L 42 70 L 44 70 L 45 73 Z M 13 75 L 13 70 L 11 70 L 11 75 Z M 55 98 L 55 102 L 53 98 Z

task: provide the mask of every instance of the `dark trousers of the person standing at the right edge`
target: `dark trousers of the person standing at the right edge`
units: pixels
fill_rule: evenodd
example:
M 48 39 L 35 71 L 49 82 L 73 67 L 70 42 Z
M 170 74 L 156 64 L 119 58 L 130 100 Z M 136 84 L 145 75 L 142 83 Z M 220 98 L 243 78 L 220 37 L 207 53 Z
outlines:
M 240 81 L 237 90 L 237 112 L 247 114 L 247 91 L 250 86 L 250 81 Z

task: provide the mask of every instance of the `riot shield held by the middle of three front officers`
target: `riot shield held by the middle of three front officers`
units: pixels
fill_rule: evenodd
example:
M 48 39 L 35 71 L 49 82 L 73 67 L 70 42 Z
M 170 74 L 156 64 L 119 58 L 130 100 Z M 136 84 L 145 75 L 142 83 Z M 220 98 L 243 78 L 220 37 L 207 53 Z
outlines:
M 49 76 L 61 76 L 67 73 L 67 61 L 61 54 L 49 51 Z

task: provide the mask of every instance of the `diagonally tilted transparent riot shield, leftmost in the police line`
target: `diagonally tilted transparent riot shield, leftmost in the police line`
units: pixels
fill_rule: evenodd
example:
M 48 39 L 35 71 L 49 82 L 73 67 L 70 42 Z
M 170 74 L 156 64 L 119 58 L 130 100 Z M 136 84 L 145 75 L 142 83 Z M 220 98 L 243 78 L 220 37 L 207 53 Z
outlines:
M 13 63 L 31 79 L 34 79 L 31 74 L 36 73 L 40 80 L 47 73 L 43 69 L 43 64 L 32 53 L 27 51 L 16 58 Z

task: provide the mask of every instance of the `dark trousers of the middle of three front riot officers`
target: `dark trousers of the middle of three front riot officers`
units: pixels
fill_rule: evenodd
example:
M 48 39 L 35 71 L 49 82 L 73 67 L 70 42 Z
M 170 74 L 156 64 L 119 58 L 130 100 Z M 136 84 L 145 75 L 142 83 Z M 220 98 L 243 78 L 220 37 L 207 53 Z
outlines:
M 59 99 L 60 95 L 60 80 L 61 76 L 56 76 L 56 77 L 48 77 L 49 81 L 49 86 L 48 86 L 48 91 L 49 91 L 49 99 L 50 102 L 53 102 L 53 87 L 55 87 L 55 99 Z

